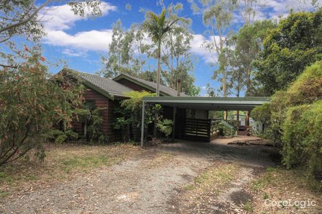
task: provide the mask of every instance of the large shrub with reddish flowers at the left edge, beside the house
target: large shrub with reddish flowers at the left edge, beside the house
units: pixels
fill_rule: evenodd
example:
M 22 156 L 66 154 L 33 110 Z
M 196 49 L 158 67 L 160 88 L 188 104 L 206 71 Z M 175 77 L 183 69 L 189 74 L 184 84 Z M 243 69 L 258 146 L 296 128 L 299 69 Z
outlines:
M 0 70 L 0 165 L 14 161 L 35 148 L 43 158 L 42 143 L 54 122 L 71 126 L 73 109 L 82 103 L 73 83 L 60 87 L 50 79 L 45 59 L 25 48 L 25 62 Z

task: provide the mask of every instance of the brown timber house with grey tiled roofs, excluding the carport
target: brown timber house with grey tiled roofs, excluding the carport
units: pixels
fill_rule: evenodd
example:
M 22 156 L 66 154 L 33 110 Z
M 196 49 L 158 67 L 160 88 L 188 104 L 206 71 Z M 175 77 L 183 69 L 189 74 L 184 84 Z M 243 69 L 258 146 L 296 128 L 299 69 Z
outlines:
M 120 107 L 120 101 L 128 98 L 125 96 L 125 93 L 131 92 L 132 90 L 156 92 L 156 83 L 145 81 L 138 77 L 119 75 L 114 79 L 109 79 L 86 72 L 79 72 L 67 68 L 64 69 L 73 72 L 73 75 L 77 75 L 77 77 L 82 80 L 82 83 L 85 86 L 83 95 L 85 104 L 92 108 L 103 108 L 101 111 L 101 116 L 103 117 L 101 128 L 109 137 L 110 142 L 117 142 L 121 139 L 121 133 L 119 130 L 113 128 L 113 123 L 118 117 L 115 113 L 115 109 Z M 160 96 L 177 96 L 177 91 L 160 85 Z M 186 96 L 186 94 L 180 93 L 180 96 Z M 170 118 L 172 109 L 169 108 L 170 111 L 167 111 L 166 109 L 164 109 L 164 114 L 168 115 L 166 117 Z M 73 122 L 73 129 L 79 134 L 84 133 L 84 123 Z

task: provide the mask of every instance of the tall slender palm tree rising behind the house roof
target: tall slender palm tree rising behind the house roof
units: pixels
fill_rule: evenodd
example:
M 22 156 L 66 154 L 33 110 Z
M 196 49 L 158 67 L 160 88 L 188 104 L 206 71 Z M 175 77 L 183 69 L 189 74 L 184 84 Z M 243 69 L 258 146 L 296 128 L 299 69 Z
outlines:
M 145 21 L 143 22 L 143 29 L 147 32 L 153 42 L 158 43 L 158 72 L 156 78 L 156 96 L 160 96 L 160 60 L 161 60 L 161 44 L 162 36 L 171 30 L 171 26 L 177 22 L 179 18 L 174 21 L 169 21 L 166 18 L 166 8 L 162 9 L 160 16 L 148 11 L 145 13 Z

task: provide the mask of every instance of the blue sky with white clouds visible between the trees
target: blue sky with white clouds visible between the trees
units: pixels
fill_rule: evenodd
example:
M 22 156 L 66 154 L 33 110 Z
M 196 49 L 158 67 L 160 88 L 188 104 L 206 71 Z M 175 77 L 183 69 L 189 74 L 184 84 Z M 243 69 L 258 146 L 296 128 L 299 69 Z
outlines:
M 320 5 L 321 1 L 319 0 Z M 39 4 L 42 2 L 37 1 Z M 206 93 L 207 83 L 214 88 L 220 86 L 218 81 L 211 79 L 214 71 L 214 68 L 210 66 L 212 55 L 201 47 L 202 42 L 208 40 L 209 37 L 205 34 L 206 27 L 202 23 L 201 15 L 193 13 L 188 1 L 164 0 L 165 5 L 177 2 L 184 5 L 180 16 L 191 18 L 193 21 L 191 30 L 194 39 L 191 42 L 191 54 L 196 58 L 193 74 L 196 79 L 195 85 L 201 88 L 201 95 L 203 95 Z M 312 10 L 312 6 L 305 0 L 268 0 L 265 2 L 266 7 L 256 15 L 256 20 L 285 17 L 290 9 Z M 125 8 L 127 4 L 132 6 L 130 11 Z M 41 40 L 43 55 L 49 62 L 55 63 L 63 60 L 69 68 L 88 73 L 98 72 L 103 68 L 101 57 L 108 55 L 113 23 L 120 19 L 125 28 L 129 28 L 134 23 L 142 23 L 145 16 L 140 9 L 160 13 L 162 6 L 157 0 L 104 0 L 101 3 L 102 16 L 90 18 L 75 16 L 69 5 L 51 3 L 40 12 L 39 16 L 45 25 L 47 34 Z M 242 26 L 243 23 L 236 14 L 232 27 L 238 30 Z M 150 63 L 156 66 L 156 62 Z M 58 72 L 62 68 L 62 63 L 59 64 L 61 66 L 51 67 L 51 72 Z

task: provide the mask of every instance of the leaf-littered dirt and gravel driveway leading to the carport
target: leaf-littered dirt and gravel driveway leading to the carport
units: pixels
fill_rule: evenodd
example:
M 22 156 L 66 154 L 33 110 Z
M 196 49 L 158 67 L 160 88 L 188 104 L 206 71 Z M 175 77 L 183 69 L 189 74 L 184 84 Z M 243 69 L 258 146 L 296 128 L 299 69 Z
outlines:
M 226 200 L 251 180 L 253 169 L 274 165 L 274 158 L 267 146 L 162 144 L 55 187 L 7 198 L 0 213 L 177 213 L 173 198 L 202 170 L 218 161 L 242 166 L 243 179 L 219 196 Z

